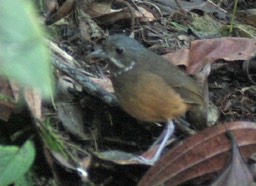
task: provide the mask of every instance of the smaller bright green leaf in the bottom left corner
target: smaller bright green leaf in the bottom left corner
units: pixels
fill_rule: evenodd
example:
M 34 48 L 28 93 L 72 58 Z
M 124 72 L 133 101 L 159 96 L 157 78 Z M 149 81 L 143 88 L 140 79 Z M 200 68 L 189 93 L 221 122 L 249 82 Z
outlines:
M 0 183 L 9 185 L 20 179 L 29 170 L 35 158 L 35 149 L 31 141 L 21 148 L 0 146 Z

